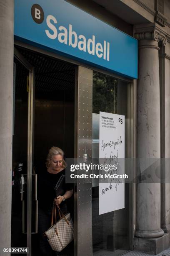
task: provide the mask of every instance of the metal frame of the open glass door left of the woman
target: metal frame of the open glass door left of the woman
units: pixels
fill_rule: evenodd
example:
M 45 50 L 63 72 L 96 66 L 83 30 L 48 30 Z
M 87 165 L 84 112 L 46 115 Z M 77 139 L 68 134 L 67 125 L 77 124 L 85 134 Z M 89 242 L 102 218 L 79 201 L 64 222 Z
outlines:
M 32 231 L 32 151 L 33 151 L 33 97 L 34 97 L 34 68 L 14 46 L 14 57 L 29 71 L 28 90 L 28 149 L 27 149 L 27 247 L 31 256 Z

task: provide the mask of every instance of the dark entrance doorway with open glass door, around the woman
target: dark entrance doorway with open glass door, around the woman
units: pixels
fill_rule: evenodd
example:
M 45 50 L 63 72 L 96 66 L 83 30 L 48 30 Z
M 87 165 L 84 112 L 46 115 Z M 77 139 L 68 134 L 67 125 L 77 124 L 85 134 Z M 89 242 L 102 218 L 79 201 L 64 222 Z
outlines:
M 37 256 L 38 175 L 52 146 L 74 158 L 76 66 L 21 47 L 14 52 L 11 246 Z M 67 207 L 73 218 L 73 198 Z M 62 253 L 73 251 L 70 244 Z

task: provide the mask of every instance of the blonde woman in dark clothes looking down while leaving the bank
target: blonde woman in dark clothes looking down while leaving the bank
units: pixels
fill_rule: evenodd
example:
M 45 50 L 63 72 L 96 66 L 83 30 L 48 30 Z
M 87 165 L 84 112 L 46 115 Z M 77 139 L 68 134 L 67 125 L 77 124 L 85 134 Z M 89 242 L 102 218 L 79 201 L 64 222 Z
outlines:
M 64 214 L 67 213 L 66 201 L 72 196 L 72 184 L 63 184 L 64 195 L 55 198 L 55 185 L 62 174 L 65 174 L 66 163 L 64 152 L 57 147 L 50 148 L 47 155 L 46 170 L 39 175 L 38 179 L 38 233 L 40 234 L 41 255 L 58 255 L 53 251 L 47 238 L 43 233 L 51 226 L 52 205 L 55 200 L 56 205 Z

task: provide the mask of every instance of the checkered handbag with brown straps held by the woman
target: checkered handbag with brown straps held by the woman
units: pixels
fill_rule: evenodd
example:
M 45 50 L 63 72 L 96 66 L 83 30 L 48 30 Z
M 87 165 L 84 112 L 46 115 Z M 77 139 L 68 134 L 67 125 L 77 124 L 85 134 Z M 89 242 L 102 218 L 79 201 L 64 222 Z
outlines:
M 60 252 L 73 240 L 74 228 L 70 213 L 64 215 L 58 205 L 57 209 L 60 215 L 60 220 L 56 222 L 56 206 L 54 202 L 52 207 L 52 226 L 45 231 L 45 235 L 47 236 L 47 241 L 50 243 L 52 250 Z M 54 217 L 55 224 L 53 225 Z

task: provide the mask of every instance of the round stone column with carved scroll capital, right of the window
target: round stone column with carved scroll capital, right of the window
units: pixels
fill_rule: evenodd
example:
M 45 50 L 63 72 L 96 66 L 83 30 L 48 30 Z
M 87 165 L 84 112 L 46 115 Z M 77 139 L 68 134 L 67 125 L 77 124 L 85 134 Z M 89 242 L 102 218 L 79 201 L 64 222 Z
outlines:
M 139 39 L 138 74 L 138 159 L 160 159 L 160 81 L 158 43 L 165 36 L 153 28 L 136 33 Z M 158 168 L 158 166 L 157 166 Z M 155 170 L 154 170 L 155 171 Z M 137 184 L 137 230 L 135 249 L 159 253 L 157 240 L 164 235 L 160 228 L 160 183 Z

